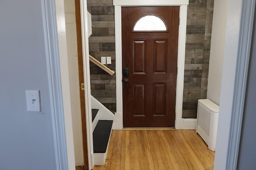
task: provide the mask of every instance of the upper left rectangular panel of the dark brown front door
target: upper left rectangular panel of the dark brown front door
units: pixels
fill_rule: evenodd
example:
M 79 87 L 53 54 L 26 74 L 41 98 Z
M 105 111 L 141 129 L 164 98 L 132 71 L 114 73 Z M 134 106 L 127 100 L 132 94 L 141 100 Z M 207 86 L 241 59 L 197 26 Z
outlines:
M 132 51 L 133 51 L 133 74 L 146 74 L 146 40 L 133 40 Z

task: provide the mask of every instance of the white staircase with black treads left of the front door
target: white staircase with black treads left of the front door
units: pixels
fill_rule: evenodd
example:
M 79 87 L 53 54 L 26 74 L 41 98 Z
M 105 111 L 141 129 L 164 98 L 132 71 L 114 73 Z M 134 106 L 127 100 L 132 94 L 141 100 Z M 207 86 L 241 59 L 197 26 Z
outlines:
M 92 100 L 92 128 L 93 128 L 93 151 L 94 164 L 104 165 L 110 135 L 112 132 L 112 125 L 114 121 L 114 114 L 103 106 L 98 100 L 91 97 Z

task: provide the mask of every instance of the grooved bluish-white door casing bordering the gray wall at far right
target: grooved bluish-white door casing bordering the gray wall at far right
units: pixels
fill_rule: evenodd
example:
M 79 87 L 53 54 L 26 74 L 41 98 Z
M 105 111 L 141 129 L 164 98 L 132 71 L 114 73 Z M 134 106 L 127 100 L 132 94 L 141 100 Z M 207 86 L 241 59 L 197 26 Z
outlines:
M 240 24 L 240 39 L 237 60 L 238 65 L 236 69 L 237 72 L 234 91 L 235 98 L 233 103 L 234 112 L 231 119 L 230 143 L 228 148 L 228 169 L 237 168 L 242 119 L 244 113 L 244 99 L 251 51 L 255 0 L 243 1 L 243 6 L 246 6 L 246 8 L 242 8 L 242 19 Z

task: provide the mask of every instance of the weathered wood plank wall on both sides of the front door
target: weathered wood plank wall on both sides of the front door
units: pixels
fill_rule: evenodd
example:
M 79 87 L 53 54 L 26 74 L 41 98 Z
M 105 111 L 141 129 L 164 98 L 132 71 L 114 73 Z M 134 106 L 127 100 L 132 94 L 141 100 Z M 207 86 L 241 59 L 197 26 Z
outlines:
M 184 73 L 183 118 L 196 118 L 197 100 L 206 98 L 214 0 L 189 0 Z M 100 61 L 111 56 L 115 70 L 114 6 L 112 0 L 87 0 L 92 14 L 90 55 Z M 110 111 L 116 111 L 116 77 L 90 64 L 91 92 Z

